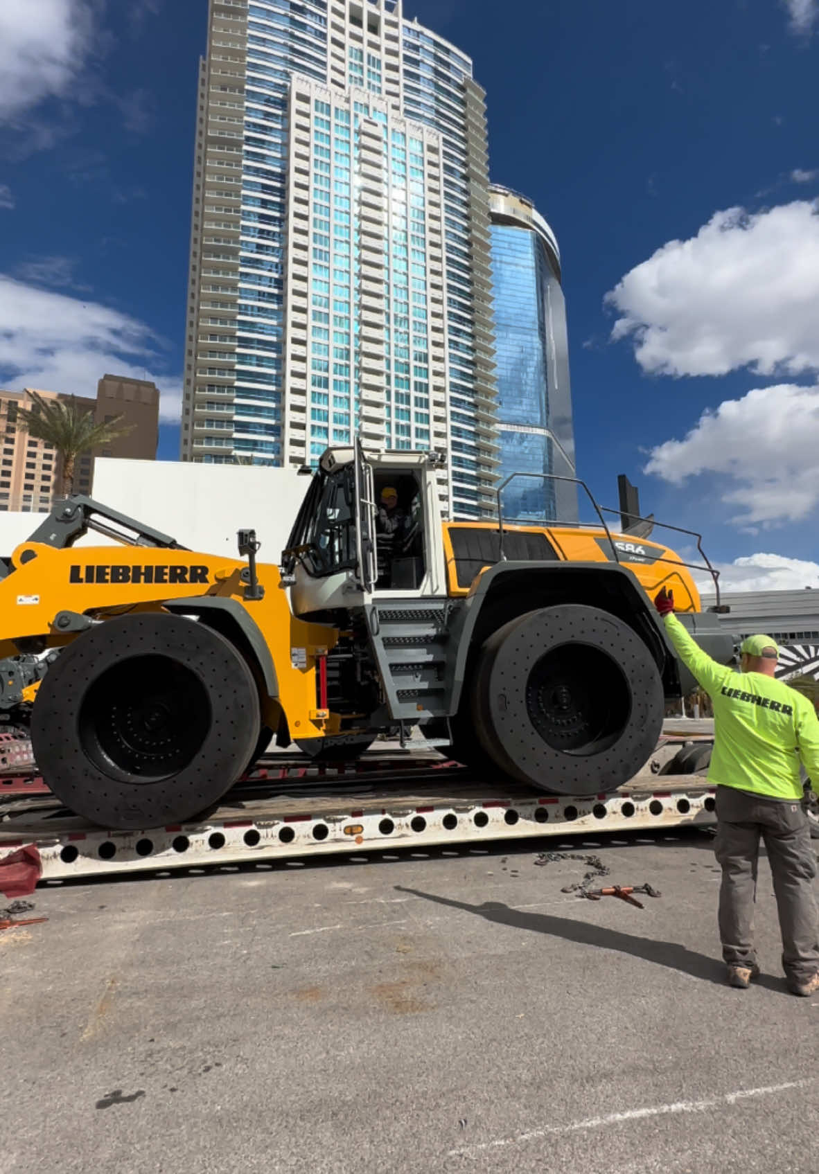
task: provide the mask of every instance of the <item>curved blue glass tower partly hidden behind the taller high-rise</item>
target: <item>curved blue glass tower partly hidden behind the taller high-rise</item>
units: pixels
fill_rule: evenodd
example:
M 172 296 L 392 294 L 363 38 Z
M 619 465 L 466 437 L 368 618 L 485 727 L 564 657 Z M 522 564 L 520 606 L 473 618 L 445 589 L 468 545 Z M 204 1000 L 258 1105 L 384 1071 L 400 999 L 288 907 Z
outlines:
M 492 296 L 502 484 L 512 473 L 575 477 L 565 299 L 557 243 L 535 209 L 491 191 Z M 577 521 L 573 485 L 519 477 L 505 518 Z

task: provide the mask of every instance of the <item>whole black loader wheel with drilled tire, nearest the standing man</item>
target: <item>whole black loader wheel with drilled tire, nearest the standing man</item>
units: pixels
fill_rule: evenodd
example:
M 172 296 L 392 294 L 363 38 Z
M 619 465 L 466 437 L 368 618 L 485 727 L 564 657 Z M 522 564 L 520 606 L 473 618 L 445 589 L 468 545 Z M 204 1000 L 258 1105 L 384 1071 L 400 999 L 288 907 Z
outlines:
M 529 612 L 481 650 L 471 697 L 476 735 L 502 771 L 541 790 L 616 790 L 654 749 L 663 711 L 647 647 L 598 608 Z

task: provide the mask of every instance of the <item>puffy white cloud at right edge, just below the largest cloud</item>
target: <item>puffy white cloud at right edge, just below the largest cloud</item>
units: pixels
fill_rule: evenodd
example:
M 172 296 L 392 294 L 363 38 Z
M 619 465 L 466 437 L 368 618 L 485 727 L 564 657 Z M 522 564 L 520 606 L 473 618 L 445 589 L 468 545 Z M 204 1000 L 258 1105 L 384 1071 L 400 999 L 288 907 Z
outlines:
M 721 500 L 732 521 L 764 528 L 800 521 L 819 504 L 819 385 L 758 387 L 705 411 L 683 440 L 650 453 L 644 472 L 683 485 L 690 477 L 727 479 Z

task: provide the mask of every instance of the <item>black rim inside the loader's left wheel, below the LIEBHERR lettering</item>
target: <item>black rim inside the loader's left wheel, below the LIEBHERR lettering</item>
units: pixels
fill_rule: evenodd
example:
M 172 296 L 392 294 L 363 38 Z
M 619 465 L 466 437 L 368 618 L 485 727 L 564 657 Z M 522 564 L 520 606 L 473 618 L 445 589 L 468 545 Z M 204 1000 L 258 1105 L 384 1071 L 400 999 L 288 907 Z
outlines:
M 132 656 L 102 673 L 80 706 L 90 762 L 110 778 L 156 783 L 183 770 L 210 729 L 199 677 L 170 656 Z

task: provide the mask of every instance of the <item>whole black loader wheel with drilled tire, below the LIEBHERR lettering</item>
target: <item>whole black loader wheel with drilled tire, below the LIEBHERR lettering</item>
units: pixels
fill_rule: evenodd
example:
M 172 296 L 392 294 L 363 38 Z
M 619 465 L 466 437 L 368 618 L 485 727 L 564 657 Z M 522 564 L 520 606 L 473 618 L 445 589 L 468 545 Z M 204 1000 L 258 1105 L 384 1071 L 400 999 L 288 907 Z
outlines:
M 259 736 L 259 691 L 241 653 L 163 613 L 79 636 L 32 714 L 34 757 L 60 802 L 123 830 L 180 823 L 216 803 Z

